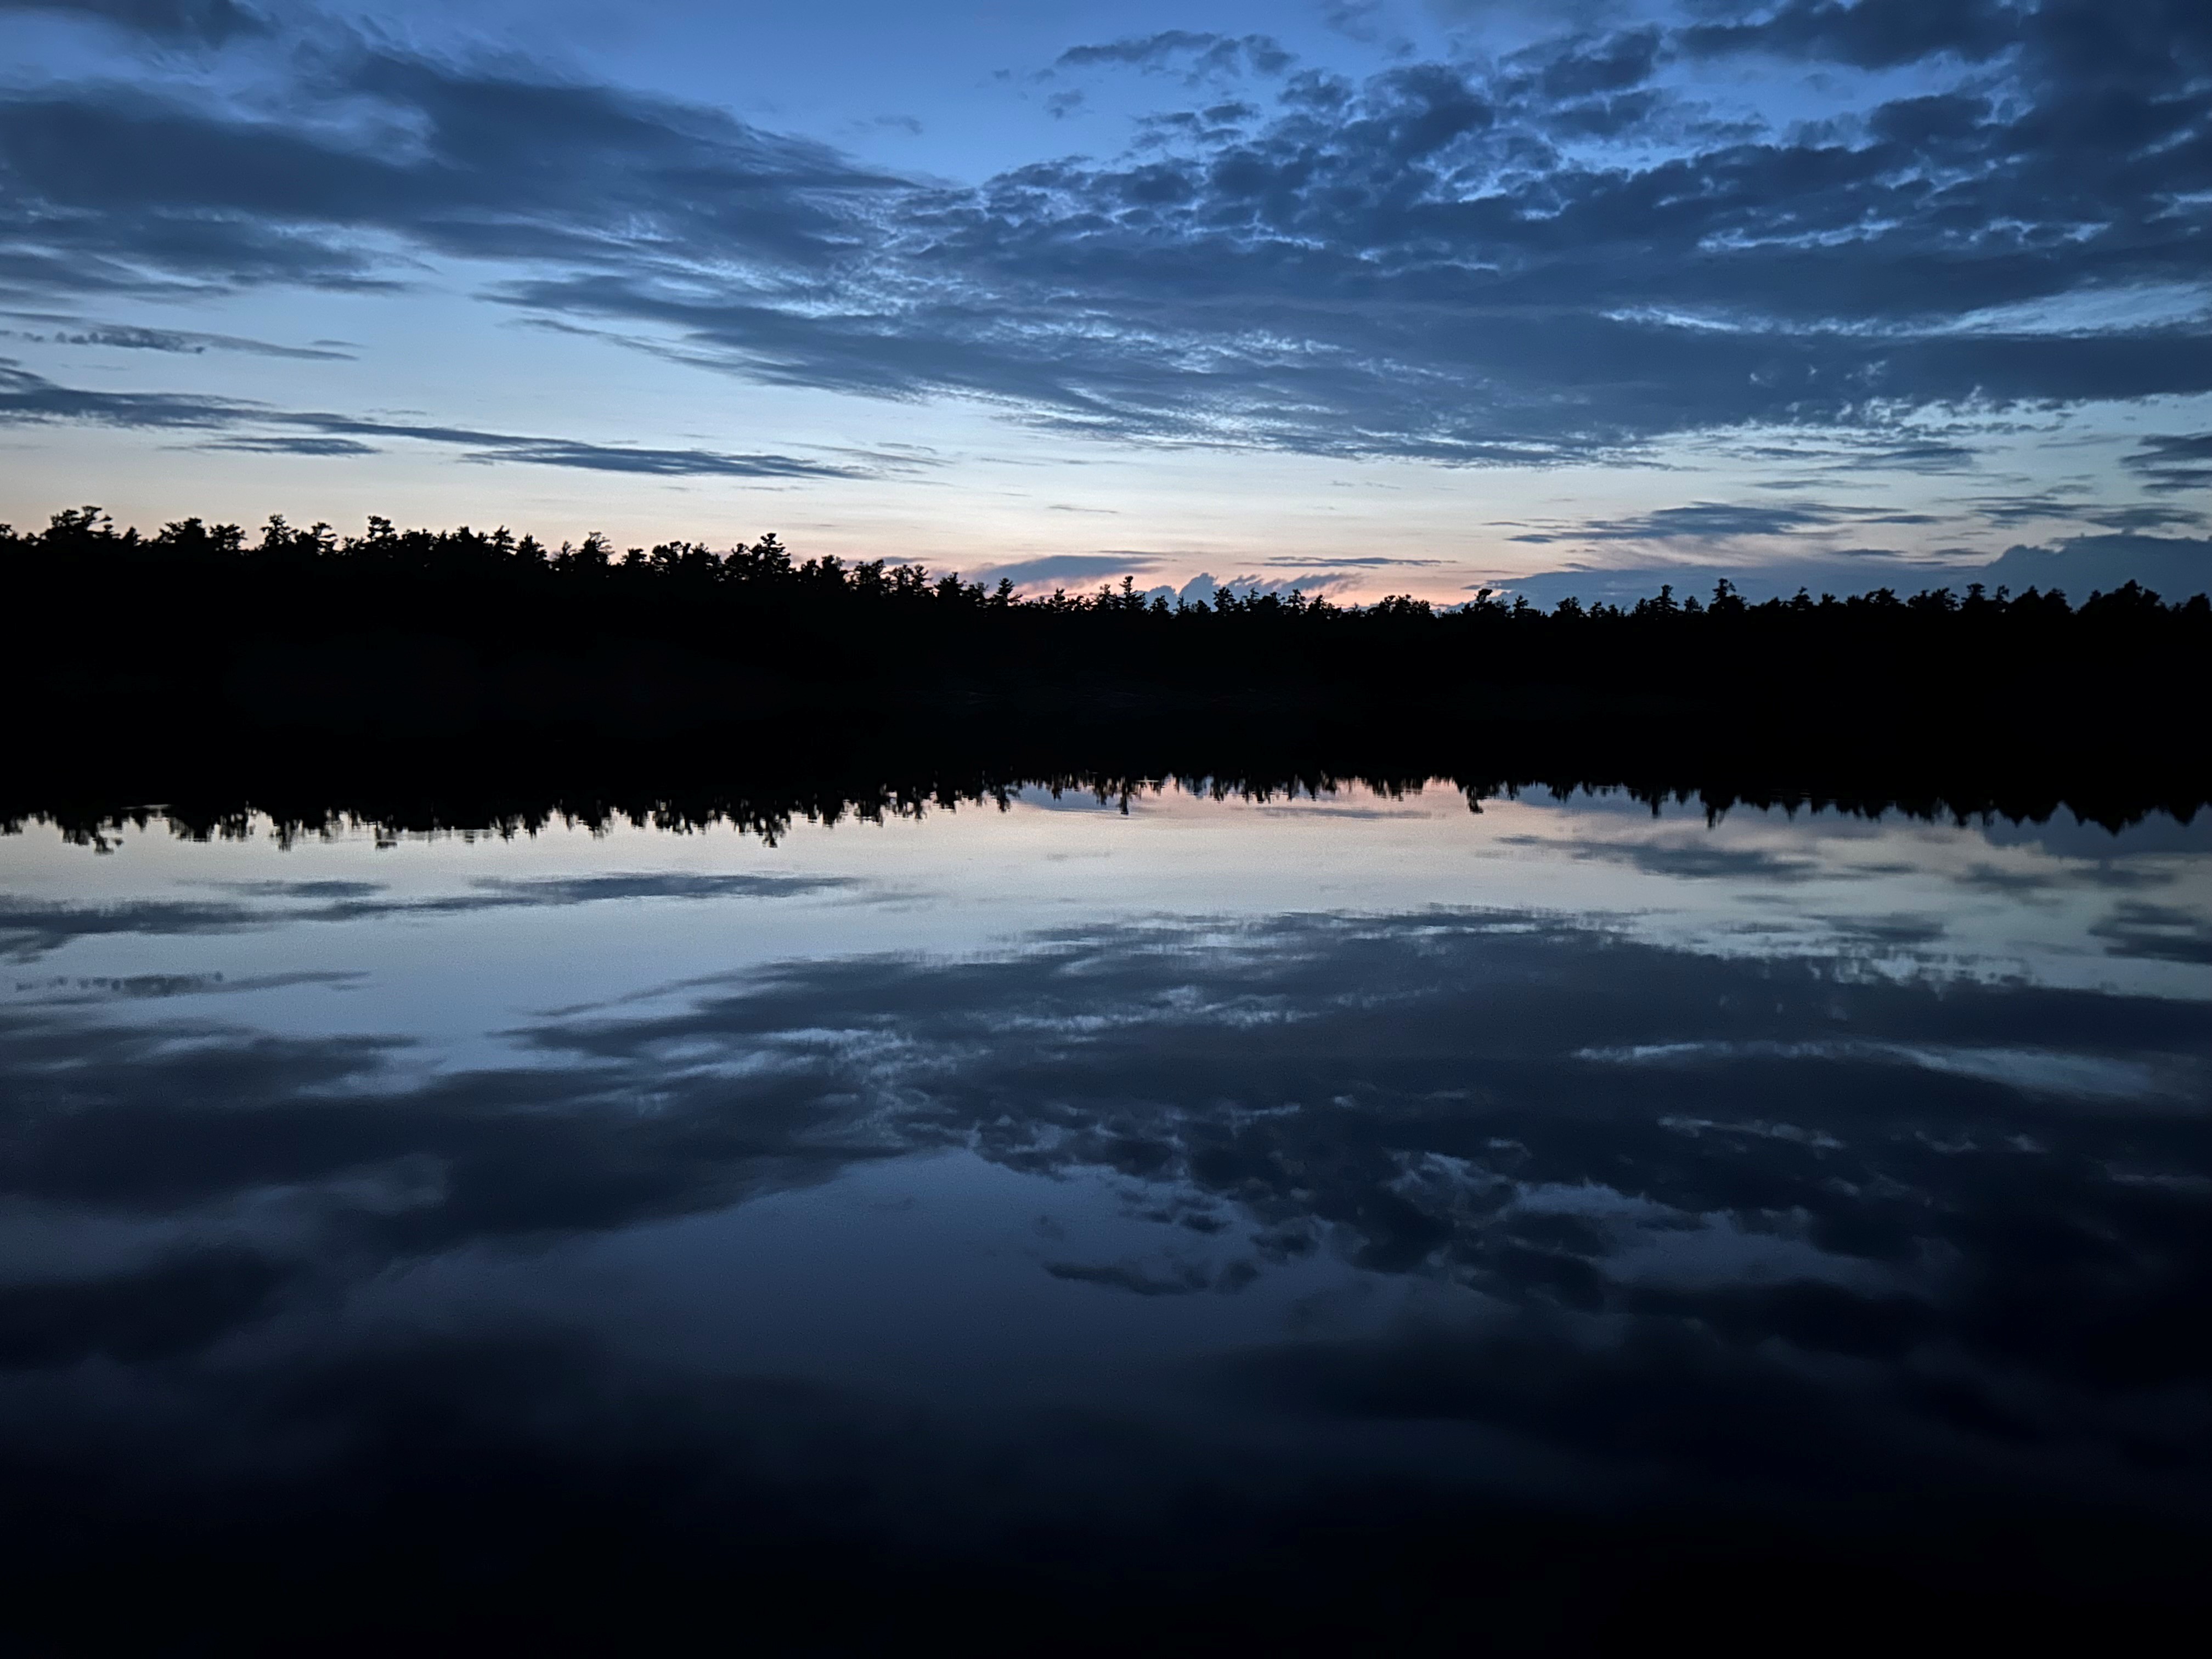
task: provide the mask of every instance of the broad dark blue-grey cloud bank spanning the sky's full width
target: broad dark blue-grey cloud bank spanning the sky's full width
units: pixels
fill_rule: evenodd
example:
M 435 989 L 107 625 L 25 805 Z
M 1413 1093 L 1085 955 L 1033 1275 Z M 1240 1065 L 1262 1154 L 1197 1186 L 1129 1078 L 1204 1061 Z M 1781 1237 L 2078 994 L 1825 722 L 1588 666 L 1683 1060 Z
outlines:
M 1168 31 L 1071 66 L 1259 51 Z M 1745 53 L 1845 75 L 1845 108 L 1717 115 Z M 1898 64 L 1911 95 L 1860 75 Z M 1128 155 L 969 188 L 354 42 L 252 111 L 184 82 L 9 95 L 0 281 L 347 288 L 465 259 L 507 305 L 695 365 L 1117 440 L 1542 465 L 1854 431 L 1944 469 L 2006 409 L 2212 392 L 2201 312 L 2097 310 L 2203 288 L 2208 66 L 2194 9 L 2150 0 L 2090 31 L 2062 4 L 1807 0 L 1296 73 L 1265 108 L 1161 111 Z M 1929 409 L 1962 436 L 1911 431 Z M 2185 451 L 2146 453 L 2188 487 Z

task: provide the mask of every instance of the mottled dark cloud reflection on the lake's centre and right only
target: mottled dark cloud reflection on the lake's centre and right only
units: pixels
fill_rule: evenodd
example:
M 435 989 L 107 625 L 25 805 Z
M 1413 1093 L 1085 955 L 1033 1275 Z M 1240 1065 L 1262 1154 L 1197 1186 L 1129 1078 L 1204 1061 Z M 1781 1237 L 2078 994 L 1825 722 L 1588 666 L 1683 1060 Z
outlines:
M 1794 872 L 1761 872 L 1774 874 Z M 1876 918 L 1865 933 L 1885 947 L 1931 938 L 1927 918 Z M 1867 1208 L 1874 1183 L 1936 1181 L 1969 1208 L 1993 1201 L 2011 1177 L 1980 1166 L 1973 1181 L 1997 1186 L 1969 1199 L 1953 1186 L 1964 1168 L 1931 1161 L 1929 1144 L 2101 1133 L 2068 1115 L 2075 1093 L 2141 1099 L 2148 1117 L 2121 1137 L 2168 1121 L 2170 1091 L 2203 1088 L 2197 1013 L 1863 982 L 1818 964 L 1688 958 L 1524 918 L 1429 914 L 1274 922 L 1206 949 L 1177 929 L 1135 929 L 1002 962 L 794 964 L 688 1011 L 533 1035 L 599 1064 L 768 1044 L 860 1066 L 847 1075 L 872 1075 L 878 1099 L 920 1088 L 920 1115 L 905 1119 L 920 1144 L 969 1141 L 1013 1168 L 1102 1168 L 1232 1203 L 1276 1252 L 1334 1230 L 1380 1272 L 1444 1272 L 1579 1307 L 1617 1294 L 1606 1263 L 1641 1237 L 1646 1223 L 1628 1219 L 1637 1206 L 1734 1210 L 1747 1223 L 1803 1203 L 1823 1250 L 1902 1263 L 1920 1245 L 1891 1228 L 1951 1223 L 1902 1192 L 1900 1208 Z M 783 1031 L 814 1035 L 787 1046 Z M 874 1040 L 885 1031 L 916 1044 L 887 1073 Z M 2143 1051 L 2172 1060 L 2143 1071 Z M 956 1053 L 967 1060 L 953 1071 L 933 1060 Z M 1621 1064 L 1641 1053 L 1670 1064 Z M 2161 1071 L 2172 1064 L 2181 1071 Z M 2179 1150 L 2192 1130 L 2157 1135 L 2179 1135 Z M 1759 1161 L 1736 1161 L 1754 1148 Z M 1617 1181 L 1635 1194 L 1626 1210 L 1595 1192 Z M 1082 1276 L 1197 1287 L 1232 1259 L 1121 1261 Z

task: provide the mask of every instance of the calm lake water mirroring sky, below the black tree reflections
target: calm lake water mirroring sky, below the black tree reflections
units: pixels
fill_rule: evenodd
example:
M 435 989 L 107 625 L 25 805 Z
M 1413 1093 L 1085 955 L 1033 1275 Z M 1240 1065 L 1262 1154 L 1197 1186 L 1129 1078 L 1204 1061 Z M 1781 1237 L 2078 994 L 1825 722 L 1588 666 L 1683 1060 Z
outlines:
M 2201 1599 L 2212 821 L 0 838 L 24 1650 Z

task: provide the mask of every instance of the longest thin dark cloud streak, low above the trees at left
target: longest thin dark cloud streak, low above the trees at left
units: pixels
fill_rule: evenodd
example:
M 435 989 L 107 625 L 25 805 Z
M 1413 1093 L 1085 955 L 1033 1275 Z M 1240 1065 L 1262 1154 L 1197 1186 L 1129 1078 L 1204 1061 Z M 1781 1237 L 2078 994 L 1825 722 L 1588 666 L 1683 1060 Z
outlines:
M 0 358 L 0 425 L 100 425 L 142 431 L 217 431 L 208 449 L 268 456 L 369 456 L 374 440 L 409 440 L 462 451 L 473 462 L 524 462 L 655 478 L 863 478 L 869 469 L 796 456 L 741 456 L 717 449 L 648 449 L 575 438 L 526 438 L 473 427 L 411 425 L 361 416 L 272 409 L 241 398 L 177 392 L 86 392 L 64 387 Z M 254 431 L 261 427 L 261 431 Z M 276 431 L 268 431 L 276 427 Z M 911 458 L 900 465 L 918 465 Z

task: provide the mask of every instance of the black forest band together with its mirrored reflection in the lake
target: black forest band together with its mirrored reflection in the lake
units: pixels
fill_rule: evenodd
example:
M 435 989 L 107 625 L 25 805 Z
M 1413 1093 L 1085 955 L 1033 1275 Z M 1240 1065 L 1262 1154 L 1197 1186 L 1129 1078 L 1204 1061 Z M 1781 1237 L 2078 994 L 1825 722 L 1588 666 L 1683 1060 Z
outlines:
M 1024 599 L 774 535 L 617 551 L 383 518 L 142 535 L 93 507 L 0 526 L 0 573 L 35 699 L 0 803 L 18 816 L 281 796 L 303 821 L 369 799 L 411 821 L 445 814 L 438 796 L 493 823 L 708 799 L 739 772 L 770 816 L 1166 776 L 2106 823 L 2212 801 L 2212 602 L 2135 582 L 2079 604 L 1980 584 L 1754 604 L 1728 582 L 1548 611 L 1170 604 L 1130 580 Z

